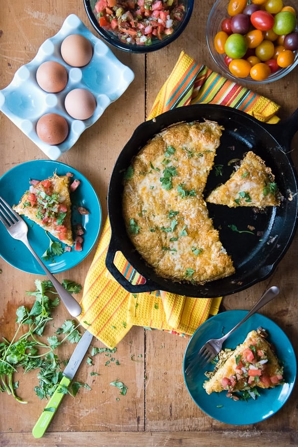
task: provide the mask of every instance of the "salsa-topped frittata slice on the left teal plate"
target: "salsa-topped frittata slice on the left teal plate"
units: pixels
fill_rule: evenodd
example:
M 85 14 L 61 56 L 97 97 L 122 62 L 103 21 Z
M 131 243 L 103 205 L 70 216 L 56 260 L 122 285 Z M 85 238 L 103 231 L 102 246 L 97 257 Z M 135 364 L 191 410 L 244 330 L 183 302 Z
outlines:
M 32 180 L 30 189 L 24 193 L 13 209 L 31 219 L 69 246 L 74 245 L 71 227 L 70 177 L 49 177 Z

